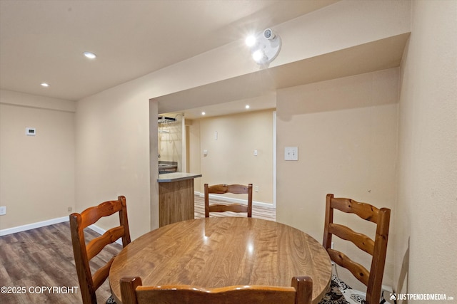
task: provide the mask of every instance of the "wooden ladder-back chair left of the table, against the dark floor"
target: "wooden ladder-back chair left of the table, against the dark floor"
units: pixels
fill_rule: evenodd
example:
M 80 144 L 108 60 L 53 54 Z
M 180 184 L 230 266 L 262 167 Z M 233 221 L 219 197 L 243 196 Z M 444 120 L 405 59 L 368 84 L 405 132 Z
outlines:
M 104 216 L 110 216 L 119 212 L 119 226 L 109 229 L 102 236 L 89 241 L 86 244 L 84 229 Z M 119 196 L 116 201 L 105 201 L 98 206 L 90 207 L 81 212 L 70 215 L 71 242 L 73 243 L 74 261 L 76 273 L 78 273 L 79 286 L 84 304 L 96 304 L 95 291 L 100 287 L 109 275 L 114 256 L 106 265 L 99 268 L 92 275 L 89 261 L 99 254 L 108 244 L 122 238 L 122 246 L 130 243 L 129 221 L 127 219 L 126 198 Z M 109 298 L 107 303 L 115 303 Z

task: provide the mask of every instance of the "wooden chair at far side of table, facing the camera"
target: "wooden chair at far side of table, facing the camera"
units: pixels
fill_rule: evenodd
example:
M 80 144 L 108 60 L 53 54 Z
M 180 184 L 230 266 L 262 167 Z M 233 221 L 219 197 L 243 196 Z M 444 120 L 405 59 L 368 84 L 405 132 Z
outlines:
M 248 204 L 209 204 L 209 194 L 248 194 Z M 209 217 L 210 212 L 247 212 L 248 217 L 252 217 L 252 184 L 244 186 L 242 184 L 216 184 L 209 186 L 205 184 L 205 217 Z

